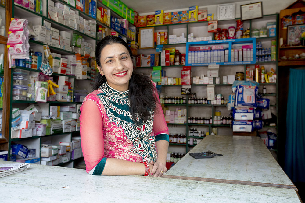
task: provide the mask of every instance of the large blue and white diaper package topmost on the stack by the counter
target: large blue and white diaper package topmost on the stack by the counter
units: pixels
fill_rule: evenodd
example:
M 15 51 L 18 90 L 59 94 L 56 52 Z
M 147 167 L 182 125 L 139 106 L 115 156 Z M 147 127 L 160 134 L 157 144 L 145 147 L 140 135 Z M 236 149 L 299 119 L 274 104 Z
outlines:
M 236 107 L 254 107 L 256 108 L 256 96 L 258 93 L 257 86 L 239 85 L 235 92 Z

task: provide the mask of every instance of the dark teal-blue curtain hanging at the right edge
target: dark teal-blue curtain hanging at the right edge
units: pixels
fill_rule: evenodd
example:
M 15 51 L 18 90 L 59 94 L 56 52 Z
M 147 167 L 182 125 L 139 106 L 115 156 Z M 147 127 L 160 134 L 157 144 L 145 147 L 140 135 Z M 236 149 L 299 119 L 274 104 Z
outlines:
M 305 182 L 305 70 L 290 69 L 287 101 L 285 172 Z

